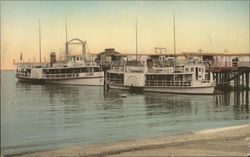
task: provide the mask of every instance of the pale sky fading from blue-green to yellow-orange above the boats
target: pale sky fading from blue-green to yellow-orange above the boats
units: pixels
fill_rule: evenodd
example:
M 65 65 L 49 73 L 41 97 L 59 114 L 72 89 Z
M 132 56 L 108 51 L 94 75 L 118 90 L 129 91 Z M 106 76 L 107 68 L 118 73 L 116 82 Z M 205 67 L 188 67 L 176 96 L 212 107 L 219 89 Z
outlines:
M 87 41 L 90 53 L 135 53 L 136 17 L 139 53 L 172 53 L 173 12 L 177 53 L 249 53 L 249 1 L 1 1 L 1 69 L 14 69 L 21 52 L 39 60 L 39 19 L 42 60 L 63 55 L 65 15 L 68 39 Z

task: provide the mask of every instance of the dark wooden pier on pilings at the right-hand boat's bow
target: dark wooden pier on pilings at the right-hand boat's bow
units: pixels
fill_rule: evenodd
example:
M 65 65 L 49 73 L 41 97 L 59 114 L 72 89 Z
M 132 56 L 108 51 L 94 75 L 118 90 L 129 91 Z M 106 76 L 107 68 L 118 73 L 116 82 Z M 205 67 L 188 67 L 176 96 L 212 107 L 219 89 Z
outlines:
M 212 72 L 216 85 L 220 89 L 249 90 L 250 63 L 239 62 L 233 66 L 211 66 L 207 71 Z

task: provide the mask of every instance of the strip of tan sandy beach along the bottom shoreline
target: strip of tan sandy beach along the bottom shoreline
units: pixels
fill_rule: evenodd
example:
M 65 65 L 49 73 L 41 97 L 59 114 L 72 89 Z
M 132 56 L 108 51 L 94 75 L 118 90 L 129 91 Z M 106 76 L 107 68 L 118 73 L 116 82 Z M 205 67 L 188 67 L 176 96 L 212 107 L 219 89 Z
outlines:
M 15 155 L 47 156 L 248 156 L 250 125 L 181 135 L 111 142 Z

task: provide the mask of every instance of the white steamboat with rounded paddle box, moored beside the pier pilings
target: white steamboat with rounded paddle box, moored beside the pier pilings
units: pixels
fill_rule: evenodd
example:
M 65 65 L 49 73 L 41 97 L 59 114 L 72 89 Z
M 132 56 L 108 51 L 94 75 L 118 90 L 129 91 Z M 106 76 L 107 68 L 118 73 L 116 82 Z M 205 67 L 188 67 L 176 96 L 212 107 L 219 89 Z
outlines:
M 175 65 L 173 65 L 175 64 Z M 126 62 L 123 67 L 107 71 L 107 86 L 111 89 L 140 89 L 146 92 L 181 94 L 213 94 L 212 73 L 194 60 L 154 63 Z

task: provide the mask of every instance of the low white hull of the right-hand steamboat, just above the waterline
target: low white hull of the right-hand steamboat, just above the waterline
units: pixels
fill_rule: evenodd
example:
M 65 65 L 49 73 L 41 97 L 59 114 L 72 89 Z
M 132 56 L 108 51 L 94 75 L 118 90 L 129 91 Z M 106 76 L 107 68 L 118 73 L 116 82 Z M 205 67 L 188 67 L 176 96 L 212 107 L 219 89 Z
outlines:
M 109 85 L 111 89 L 128 90 L 129 86 Z M 213 94 L 214 86 L 204 87 L 141 87 L 144 92 L 178 93 L 178 94 Z

